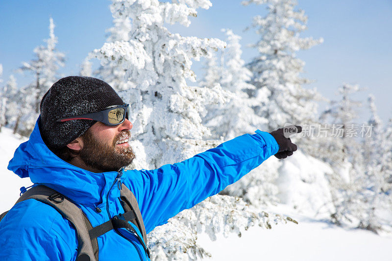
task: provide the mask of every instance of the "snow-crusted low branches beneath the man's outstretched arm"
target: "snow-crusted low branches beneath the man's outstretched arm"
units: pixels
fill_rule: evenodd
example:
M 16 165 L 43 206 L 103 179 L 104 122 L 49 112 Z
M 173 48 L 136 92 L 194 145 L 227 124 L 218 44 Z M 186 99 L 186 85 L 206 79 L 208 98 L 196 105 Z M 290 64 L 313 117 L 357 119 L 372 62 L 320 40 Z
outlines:
M 148 247 L 152 261 L 196 260 L 211 257 L 211 254 L 197 244 L 197 233 L 207 233 L 216 240 L 217 234 L 224 237 L 241 233 L 249 227 L 259 226 L 271 229 L 273 225 L 287 222 L 297 223 L 288 216 L 268 214 L 249 206 L 239 197 L 215 195 L 184 210 L 169 219 L 164 226 L 148 234 Z

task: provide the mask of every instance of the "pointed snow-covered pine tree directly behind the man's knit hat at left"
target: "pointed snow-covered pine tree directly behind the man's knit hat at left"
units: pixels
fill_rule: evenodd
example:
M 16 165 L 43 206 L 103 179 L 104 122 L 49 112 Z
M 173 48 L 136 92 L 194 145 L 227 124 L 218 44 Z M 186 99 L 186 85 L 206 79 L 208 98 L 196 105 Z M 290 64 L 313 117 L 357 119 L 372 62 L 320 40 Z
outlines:
M 47 43 L 46 46 L 41 45 L 34 48 L 35 59 L 24 62 L 20 68 L 21 71 L 31 72 L 35 78 L 28 88 L 24 88 L 27 95 L 34 96 L 33 104 L 31 104 L 33 111 L 29 115 L 23 116 L 24 126 L 21 131 L 25 134 L 28 134 L 34 127 L 34 119 L 38 117 L 41 98 L 58 78 L 58 69 L 64 66 L 65 55 L 56 50 L 57 37 L 54 35 L 52 18 L 49 19 L 49 38 L 44 41 Z

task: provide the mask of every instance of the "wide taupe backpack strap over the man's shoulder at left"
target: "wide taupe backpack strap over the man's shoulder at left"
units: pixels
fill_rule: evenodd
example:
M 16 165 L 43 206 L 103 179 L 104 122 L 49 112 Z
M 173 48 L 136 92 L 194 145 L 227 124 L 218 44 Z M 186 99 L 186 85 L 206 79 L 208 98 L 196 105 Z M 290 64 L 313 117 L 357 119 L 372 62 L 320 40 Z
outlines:
M 62 194 L 44 185 L 27 190 L 15 204 L 27 199 L 35 199 L 53 207 L 63 218 L 73 224 L 78 241 L 76 261 L 98 261 L 98 240 L 97 238 L 95 241 L 90 240 L 88 231 L 92 229 L 92 225 L 81 209 Z M 5 216 L 5 214 L 2 215 Z

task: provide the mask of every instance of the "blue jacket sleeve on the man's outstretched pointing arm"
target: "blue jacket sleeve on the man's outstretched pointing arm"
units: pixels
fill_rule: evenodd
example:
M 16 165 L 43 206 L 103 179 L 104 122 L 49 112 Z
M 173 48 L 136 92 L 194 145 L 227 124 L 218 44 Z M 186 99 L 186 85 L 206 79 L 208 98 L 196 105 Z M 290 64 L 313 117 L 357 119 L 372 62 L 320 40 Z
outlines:
M 149 233 L 236 182 L 278 149 L 270 133 L 257 130 L 176 164 L 127 171 L 124 184 L 133 190 Z

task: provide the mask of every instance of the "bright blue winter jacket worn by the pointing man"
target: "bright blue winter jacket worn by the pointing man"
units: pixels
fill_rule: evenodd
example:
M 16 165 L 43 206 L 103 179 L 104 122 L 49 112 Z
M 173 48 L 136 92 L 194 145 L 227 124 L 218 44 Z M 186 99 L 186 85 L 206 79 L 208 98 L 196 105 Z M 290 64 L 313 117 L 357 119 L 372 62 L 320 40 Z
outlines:
M 277 151 L 275 139 L 257 130 L 176 164 L 124 171 L 121 182 L 134 193 L 149 233 L 236 182 Z M 108 212 L 111 216 L 123 213 L 120 190 L 112 187 L 118 173 L 93 173 L 61 160 L 43 142 L 38 120 L 29 140 L 16 149 L 8 169 L 72 199 L 93 227 L 108 221 Z M 102 211 L 97 213 L 96 207 Z M 128 238 L 132 243 L 114 230 L 98 237 L 99 260 L 148 260 L 139 241 L 133 235 Z M 44 203 L 34 199 L 18 203 L 0 222 L 1 261 L 74 261 L 76 254 L 73 226 Z

